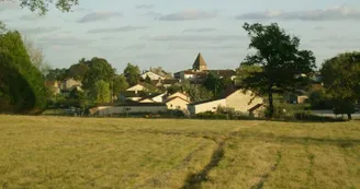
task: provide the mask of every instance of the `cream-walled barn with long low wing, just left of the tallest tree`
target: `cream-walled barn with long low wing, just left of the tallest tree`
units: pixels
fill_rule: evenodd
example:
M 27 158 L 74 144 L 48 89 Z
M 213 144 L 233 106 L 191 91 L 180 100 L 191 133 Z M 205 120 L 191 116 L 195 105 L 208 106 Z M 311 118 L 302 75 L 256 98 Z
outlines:
M 258 116 L 258 110 L 260 110 L 262 106 L 263 98 L 252 96 L 250 91 L 244 93 L 243 90 L 232 90 L 223 95 L 223 97 L 189 104 L 188 110 L 191 115 L 195 115 L 205 111 L 214 113 L 218 107 L 227 107 L 235 111 Z

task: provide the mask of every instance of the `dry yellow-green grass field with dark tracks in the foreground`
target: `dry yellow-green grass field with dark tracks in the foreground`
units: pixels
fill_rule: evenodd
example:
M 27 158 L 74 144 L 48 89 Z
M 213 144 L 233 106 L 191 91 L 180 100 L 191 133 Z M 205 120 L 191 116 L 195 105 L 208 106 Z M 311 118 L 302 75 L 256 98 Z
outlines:
M 0 116 L 0 188 L 360 189 L 360 122 Z

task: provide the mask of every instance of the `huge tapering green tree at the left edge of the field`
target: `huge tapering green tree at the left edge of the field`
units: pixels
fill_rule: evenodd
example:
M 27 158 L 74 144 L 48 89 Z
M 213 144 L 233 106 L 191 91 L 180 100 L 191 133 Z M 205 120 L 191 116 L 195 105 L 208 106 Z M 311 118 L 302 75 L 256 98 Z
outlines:
M 38 114 L 46 98 L 43 75 L 31 63 L 21 35 L 0 35 L 0 111 Z

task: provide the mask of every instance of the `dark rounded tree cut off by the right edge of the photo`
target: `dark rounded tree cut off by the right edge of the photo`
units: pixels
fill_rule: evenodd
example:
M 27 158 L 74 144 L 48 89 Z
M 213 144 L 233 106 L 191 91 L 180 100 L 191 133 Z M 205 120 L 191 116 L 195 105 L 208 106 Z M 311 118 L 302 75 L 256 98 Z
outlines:
M 328 59 L 320 72 L 326 92 L 331 96 L 335 114 L 347 114 L 351 119 L 360 98 L 360 52 L 340 54 Z

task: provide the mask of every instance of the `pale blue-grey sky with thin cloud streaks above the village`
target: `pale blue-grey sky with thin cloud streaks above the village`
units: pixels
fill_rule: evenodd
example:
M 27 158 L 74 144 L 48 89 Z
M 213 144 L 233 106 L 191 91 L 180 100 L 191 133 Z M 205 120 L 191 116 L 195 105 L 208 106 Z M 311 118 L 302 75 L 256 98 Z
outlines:
M 31 38 L 53 68 L 101 57 L 119 72 L 127 62 L 176 72 L 201 52 L 209 69 L 235 69 L 254 52 L 245 22 L 277 22 L 318 67 L 360 50 L 359 0 L 79 0 L 69 13 L 49 7 L 44 16 L 5 0 L 0 21 Z

